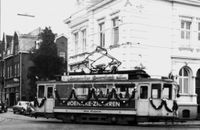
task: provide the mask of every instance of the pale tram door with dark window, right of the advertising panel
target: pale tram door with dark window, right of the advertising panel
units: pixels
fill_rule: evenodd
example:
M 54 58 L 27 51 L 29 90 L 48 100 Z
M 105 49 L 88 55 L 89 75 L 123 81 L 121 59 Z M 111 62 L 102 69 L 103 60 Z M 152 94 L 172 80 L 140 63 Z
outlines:
M 147 116 L 149 107 L 149 84 L 139 84 L 138 101 L 137 101 L 137 115 Z

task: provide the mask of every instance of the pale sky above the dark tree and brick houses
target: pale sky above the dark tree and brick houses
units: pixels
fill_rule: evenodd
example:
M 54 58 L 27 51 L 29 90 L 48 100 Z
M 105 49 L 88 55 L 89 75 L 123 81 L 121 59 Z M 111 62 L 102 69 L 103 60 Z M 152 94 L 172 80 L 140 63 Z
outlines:
M 41 27 L 51 27 L 54 33 L 66 34 L 64 20 L 75 10 L 76 0 L 0 0 L 1 1 L 1 37 L 3 32 L 13 35 L 22 34 Z M 29 14 L 35 17 L 19 16 Z

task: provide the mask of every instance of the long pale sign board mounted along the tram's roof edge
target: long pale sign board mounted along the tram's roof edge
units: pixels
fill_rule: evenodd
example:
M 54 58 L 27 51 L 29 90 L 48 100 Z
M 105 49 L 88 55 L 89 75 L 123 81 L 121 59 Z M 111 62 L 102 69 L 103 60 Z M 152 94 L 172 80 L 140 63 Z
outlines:
M 72 75 L 62 76 L 62 81 L 106 81 L 106 80 L 128 80 L 128 74 L 103 74 L 103 75 Z

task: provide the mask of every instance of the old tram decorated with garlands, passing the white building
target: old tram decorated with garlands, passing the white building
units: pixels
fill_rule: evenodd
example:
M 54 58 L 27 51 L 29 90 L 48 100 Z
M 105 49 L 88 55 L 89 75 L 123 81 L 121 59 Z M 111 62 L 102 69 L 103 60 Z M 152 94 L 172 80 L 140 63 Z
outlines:
M 174 120 L 178 90 L 173 80 L 151 78 L 143 70 L 65 75 L 37 82 L 33 115 L 80 123 Z

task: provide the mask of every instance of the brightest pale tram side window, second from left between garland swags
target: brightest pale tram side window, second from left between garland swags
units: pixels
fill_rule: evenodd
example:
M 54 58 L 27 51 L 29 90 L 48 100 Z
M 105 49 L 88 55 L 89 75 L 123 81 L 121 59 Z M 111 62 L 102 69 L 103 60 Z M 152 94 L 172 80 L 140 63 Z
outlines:
M 79 98 L 86 98 L 89 92 L 89 88 L 92 88 L 92 84 L 75 84 L 76 95 Z

